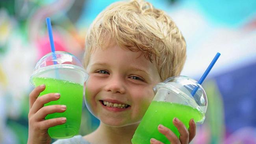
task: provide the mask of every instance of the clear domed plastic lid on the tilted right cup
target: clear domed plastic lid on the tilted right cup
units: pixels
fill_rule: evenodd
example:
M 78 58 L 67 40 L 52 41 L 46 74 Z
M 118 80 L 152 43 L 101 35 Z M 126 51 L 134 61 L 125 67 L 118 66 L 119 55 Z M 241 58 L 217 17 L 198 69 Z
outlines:
M 162 83 L 158 83 L 154 87 L 154 92 L 156 93 L 160 88 L 170 89 L 178 94 L 182 94 L 184 99 L 189 101 L 192 105 L 195 105 L 202 111 L 206 113 L 207 109 L 207 97 L 203 87 L 197 83 L 196 80 L 191 79 L 187 76 L 177 76 L 166 79 Z M 197 89 L 197 90 L 196 90 Z M 193 90 L 195 92 L 193 94 Z M 191 94 L 192 93 L 192 94 Z

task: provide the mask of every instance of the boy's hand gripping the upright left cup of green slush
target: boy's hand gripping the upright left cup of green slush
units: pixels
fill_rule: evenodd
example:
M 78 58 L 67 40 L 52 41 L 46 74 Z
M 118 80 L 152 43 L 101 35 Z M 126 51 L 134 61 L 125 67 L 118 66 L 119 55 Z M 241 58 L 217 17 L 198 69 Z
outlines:
M 45 90 L 45 85 L 41 85 L 32 90 L 29 95 L 30 110 L 28 113 L 28 144 L 50 144 L 51 138 L 47 131 L 49 127 L 57 126 L 66 122 L 66 118 L 52 118 L 45 120 L 45 116 L 51 113 L 63 113 L 66 111 L 65 105 L 49 105 L 43 107 L 45 103 L 58 100 L 58 93 L 45 94 L 37 98 L 40 92 Z

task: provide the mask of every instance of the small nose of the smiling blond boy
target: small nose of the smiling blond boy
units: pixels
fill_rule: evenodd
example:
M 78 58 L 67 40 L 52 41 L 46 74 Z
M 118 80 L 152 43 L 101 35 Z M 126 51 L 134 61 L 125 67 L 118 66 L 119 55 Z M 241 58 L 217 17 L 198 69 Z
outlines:
M 105 86 L 105 90 L 112 93 L 124 94 L 126 92 L 124 82 L 117 76 L 111 76 L 108 84 Z

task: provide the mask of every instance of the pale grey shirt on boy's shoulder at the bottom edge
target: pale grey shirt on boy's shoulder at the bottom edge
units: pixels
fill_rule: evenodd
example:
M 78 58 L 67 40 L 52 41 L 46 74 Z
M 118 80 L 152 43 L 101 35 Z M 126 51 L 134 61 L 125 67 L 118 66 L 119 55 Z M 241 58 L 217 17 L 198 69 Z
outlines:
M 72 138 L 67 139 L 59 139 L 52 144 L 90 144 L 87 140 L 85 140 L 82 135 L 76 135 Z

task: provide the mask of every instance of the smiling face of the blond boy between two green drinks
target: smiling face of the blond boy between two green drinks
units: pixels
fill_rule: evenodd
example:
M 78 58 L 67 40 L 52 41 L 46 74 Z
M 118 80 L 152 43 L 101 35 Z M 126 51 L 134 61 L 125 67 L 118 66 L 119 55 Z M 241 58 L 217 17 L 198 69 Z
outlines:
M 96 49 L 91 54 L 87 72 L 87 107 L 108 126 L 138 123 L 154 97 L 153 87 L 160 82 L 156 66 L 141 52 L 119 46 Z M 111 104 L 106 102 L 125 106 L 109 107 Z

